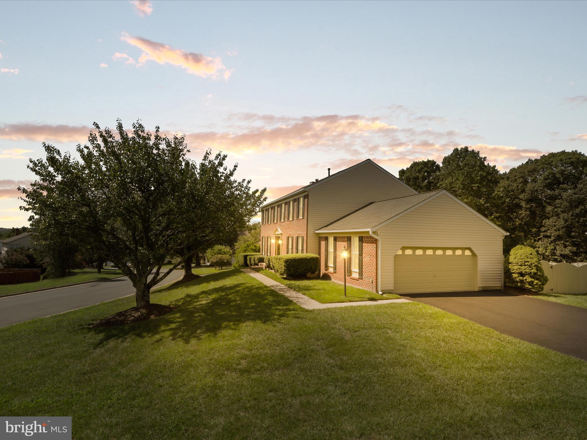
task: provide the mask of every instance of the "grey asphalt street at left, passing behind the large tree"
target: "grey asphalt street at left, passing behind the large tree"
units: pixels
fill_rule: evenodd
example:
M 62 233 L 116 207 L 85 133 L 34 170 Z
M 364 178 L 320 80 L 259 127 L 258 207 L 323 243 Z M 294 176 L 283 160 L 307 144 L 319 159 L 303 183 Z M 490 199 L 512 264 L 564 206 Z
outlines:
M 182 276 L 182 270 L 174 270 L 158 285 L 176 281 Z M 123 277 L 77 286 L 56 287 L 42 292 L 5 296 L 0 298 L 0 327 L 92 306 L 133 293 L 133 284 L 127 277 Z

